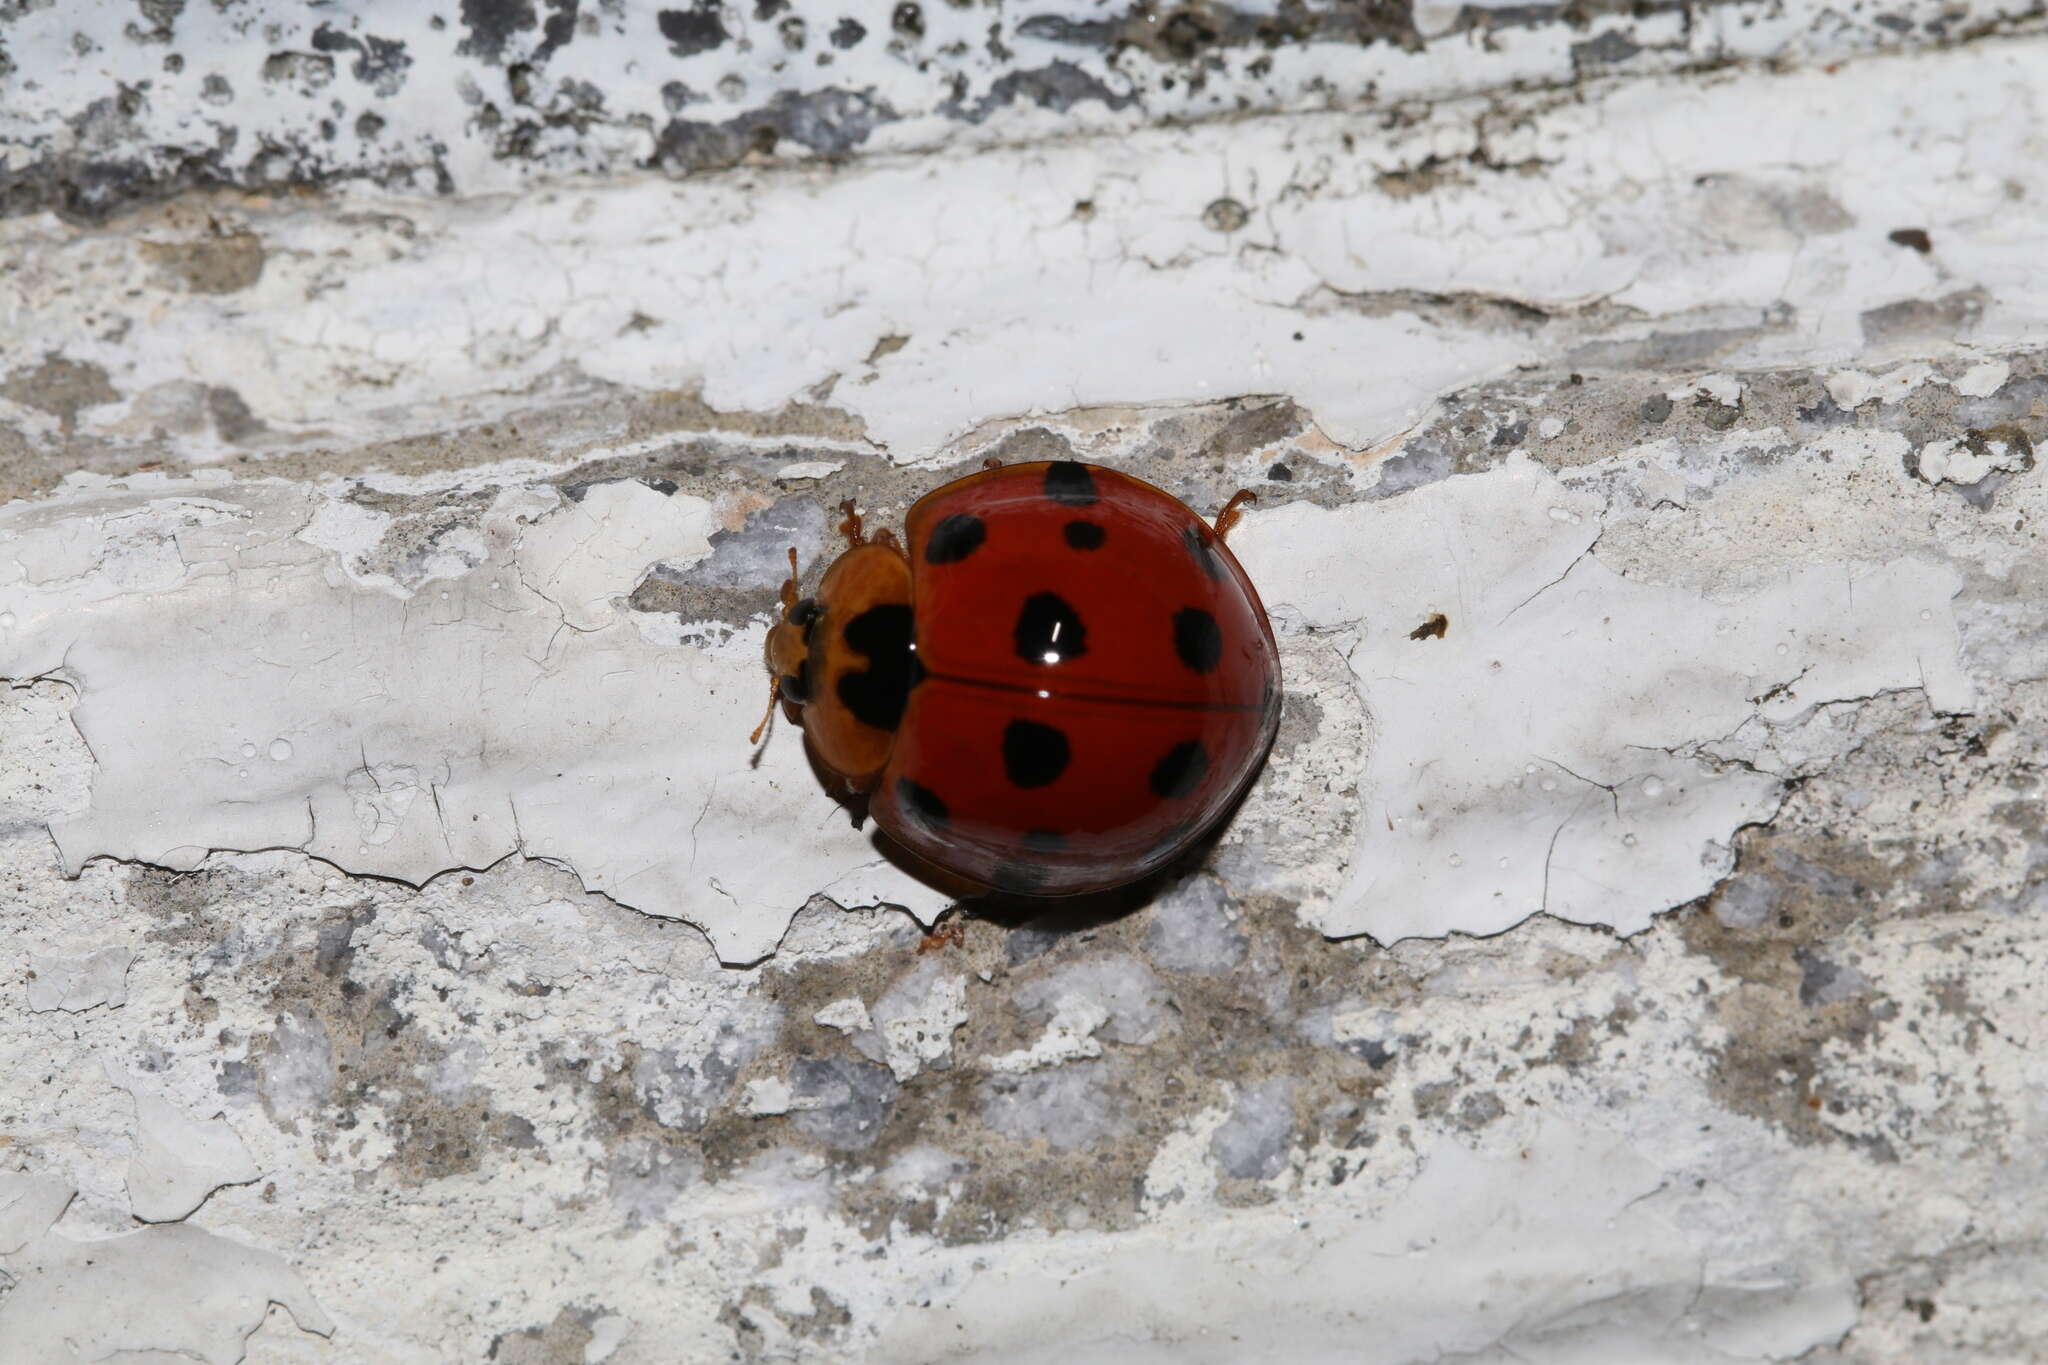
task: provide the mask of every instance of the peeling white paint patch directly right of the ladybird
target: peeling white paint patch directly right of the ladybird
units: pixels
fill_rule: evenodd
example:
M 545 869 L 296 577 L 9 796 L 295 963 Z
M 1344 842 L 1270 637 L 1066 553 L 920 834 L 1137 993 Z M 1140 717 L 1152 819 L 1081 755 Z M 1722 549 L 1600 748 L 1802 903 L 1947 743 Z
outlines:
M 1634 933 L 1704 894 L 1782 792 L 1702 745 L 1882 690 L 1970 706 L 1952 569 L 1815 565 L 1708 600 L 1602 565 L 1602 518 L 1511 460 L 1241 532 L 1282 618 L 1354 641 L 1374 718 L 1358 843 L 1307 911 L 1323 933 L 1497 933 L 1538 911 Z M 1415 636 L 1436 614 L 1444 634 Z

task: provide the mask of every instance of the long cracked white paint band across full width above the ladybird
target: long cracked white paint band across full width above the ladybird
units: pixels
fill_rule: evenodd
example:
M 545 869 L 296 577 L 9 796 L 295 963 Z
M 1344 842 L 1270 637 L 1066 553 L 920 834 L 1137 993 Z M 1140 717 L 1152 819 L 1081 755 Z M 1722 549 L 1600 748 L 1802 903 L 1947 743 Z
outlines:
M 995 415 L 1243 391 L 1288 393 L 1364 448 L 1456 385 L 1655 336 L 1718 336 L 1722 375 L 1855 364 L 1866 315 L 1944 297 L 1944 268 L 1966 270 L 1987 303 L 1925 344 L 2011 346 L 2048 313 L 2034 219 L 2007 213 L 2048 192 L 2028 141 L 2048 98 L 2038 43 L 1874 59 L 1853 82 L 1737 70 L 1591 84 L 1499 117 L 1440 100 L 1415 119 L 1145 129 L 840 178 L 371 199 L 348 223 L 281 207 L 250 219 L 262 276 L 225 297 L 166 287 L 139 244 L 16 219 L 0 244 L 29 268 L 0 282 L 0 315 L 37 325 L 0 342 L 0 370 L 37 364 L 37 338 L 61 336 L 121 393 L 231 389 L 264 424 L 246 438 L 256 452 L 424 434 L 455 409 L 487 422 L 565 368 L 641 391 L 694 385 L 719 409 L 829 393 L 874 446 L 928 463 Z M 1954 141 L 1917 137 L 1901 106 L 1970 129 L 1968 164 Z M 1464 158 L 1542 174 L 1417 170 Z M 1235 186 L 1219 168 L 1274 170 Z M 1251 213 L 1235 237 L 1202 221 L 1227 184 Z M 1898 184 L 1921 186 L 1915 225 L 1942 264 L 1882 241 Z M 846 225 L 829 252 L 821 221 Z M 86 295 L 47 278 L 147 280 L 133 307 L 150 323 L 106 342 Z M 1503 303 L 1554 321 L 1503 329 L 1489 313 Z M 1130 317 L 1171 342 L 1133 346 Z M 907 342 L 870 364 L 881 338 Z M 1911 372 L 1843 368 L 1837 401 L 1905 393 Z M 119 440 L 133 401 L 76 420 Z

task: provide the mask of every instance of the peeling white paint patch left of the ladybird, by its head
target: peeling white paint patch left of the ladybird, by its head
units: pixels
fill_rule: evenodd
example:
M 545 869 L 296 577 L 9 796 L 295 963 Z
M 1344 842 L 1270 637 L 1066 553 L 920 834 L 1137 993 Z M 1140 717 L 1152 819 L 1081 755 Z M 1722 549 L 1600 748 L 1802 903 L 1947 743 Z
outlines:
M 520 851 L 698 923 L 735 962 L 770 952 L 819 888 L 944 907 L 844 821 L 780 833 L 829 802 L 797 743 L 750 767 L 760 628 L 662 647 L 618 618 L 647 567 L 709 551 L 709 503 L 635 481 L 582 503 L 512 485 L 479 520 L 489 559 L 412 596 L 358 585 L 299 538 L 322 503 L 248 485 L 0 512 L 23 565 L 0 675 L 61 669 L 86 698 L 92 806 L 53 825 L 74 870 L 303 847 L 424 882 Z

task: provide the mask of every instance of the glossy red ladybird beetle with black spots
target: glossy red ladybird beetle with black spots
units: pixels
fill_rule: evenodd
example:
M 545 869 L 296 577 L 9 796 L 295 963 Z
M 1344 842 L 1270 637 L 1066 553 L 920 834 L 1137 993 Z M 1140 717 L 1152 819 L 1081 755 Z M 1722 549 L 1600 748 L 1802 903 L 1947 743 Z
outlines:
M 770 714 L 946 872 L 1135 882 L 1237 802 L 1280 720 L 1280 651 L 1223 542 L 1247 497 L 1210 528 L 1114 469 L 991 463 L 924 495 L 905 542 L 848 501 L 817 596 L 788 553 Z

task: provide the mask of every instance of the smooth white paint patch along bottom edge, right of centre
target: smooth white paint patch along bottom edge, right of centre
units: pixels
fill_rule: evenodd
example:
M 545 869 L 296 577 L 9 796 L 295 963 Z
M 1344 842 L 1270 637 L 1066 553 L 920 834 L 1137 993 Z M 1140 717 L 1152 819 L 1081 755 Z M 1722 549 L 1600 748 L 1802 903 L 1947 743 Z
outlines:
M 1655 1164 L 1597 1132 L 1532 1126 L 1499 1154 L 1440 1144 L 1376 1218 L 1288 1207 L 1180 1216 L 1143 1248 L 1038 1242 L 899 1310 L 870 1359 L 1761 1363 L 1855 1322 L 1845 1275 L 1712 1265 L 1657 1193 Z

